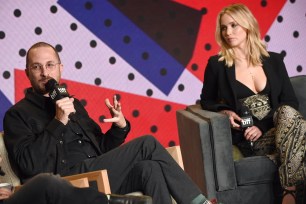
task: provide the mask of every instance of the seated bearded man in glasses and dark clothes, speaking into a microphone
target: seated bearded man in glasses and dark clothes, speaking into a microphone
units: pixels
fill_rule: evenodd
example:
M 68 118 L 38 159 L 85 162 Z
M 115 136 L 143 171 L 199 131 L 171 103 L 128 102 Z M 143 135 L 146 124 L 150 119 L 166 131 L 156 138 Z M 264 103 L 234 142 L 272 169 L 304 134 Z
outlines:
M 142 191 L 153 203 L 206 203 L 205 196 L 152 136 L 122 145 L 130 130 L 116 97 L 105 104 L 112 127 L 104 134 L 79 100 L 54 102 L 45 84 L 60 81 L 63 64 L 53 46 L 39 42 L 27 52 L 32 87 L 5 114 L 5 144 L 17 174 L 26 181 L 42 172 L 61 176 L 107 169 L 112 192 Z M 73 116 L 73 117 L 71 117 Z M 120 146 L 120 147 L 119 147 Z

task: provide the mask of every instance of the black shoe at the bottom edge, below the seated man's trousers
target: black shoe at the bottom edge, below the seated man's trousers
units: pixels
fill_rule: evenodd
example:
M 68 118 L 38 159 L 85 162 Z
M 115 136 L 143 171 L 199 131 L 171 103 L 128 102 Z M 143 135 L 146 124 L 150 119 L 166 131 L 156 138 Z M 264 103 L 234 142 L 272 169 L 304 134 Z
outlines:
M 133 196 L 133 195 L 115 195 L 111 194 L 108 200 L 109 204 L 152 204 L 150 196 Z

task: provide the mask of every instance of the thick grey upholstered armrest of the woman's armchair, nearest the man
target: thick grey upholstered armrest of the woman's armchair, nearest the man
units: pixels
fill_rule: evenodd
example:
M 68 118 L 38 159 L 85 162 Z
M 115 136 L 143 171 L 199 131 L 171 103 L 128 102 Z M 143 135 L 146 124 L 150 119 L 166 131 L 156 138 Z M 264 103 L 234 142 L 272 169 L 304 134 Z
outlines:
M 191 172 L 201 190 L 216 197 L 216 190 L 237 188 L 228 118 L 191 105 L 177 111 L 177 122 L 185 171 Z M 187 164 L 188 160 L 192 162 Z

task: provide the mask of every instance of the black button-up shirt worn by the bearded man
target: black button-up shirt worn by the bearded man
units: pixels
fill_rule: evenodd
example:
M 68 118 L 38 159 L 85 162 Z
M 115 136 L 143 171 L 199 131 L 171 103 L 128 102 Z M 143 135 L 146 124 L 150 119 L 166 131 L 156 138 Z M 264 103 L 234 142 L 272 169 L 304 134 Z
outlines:
M 103 133 L 79 100 L 73 104 L 77 124 L 64 125 L 55 119 L 52 100 L 29 88 L 25 98 L 6 112 L 4 142 L 22 182 L 44 172 L 69 175 L 69 168 L 77 162 L 106 153 L 125 141 L 128 121 L 126 128 L 112 125 Z

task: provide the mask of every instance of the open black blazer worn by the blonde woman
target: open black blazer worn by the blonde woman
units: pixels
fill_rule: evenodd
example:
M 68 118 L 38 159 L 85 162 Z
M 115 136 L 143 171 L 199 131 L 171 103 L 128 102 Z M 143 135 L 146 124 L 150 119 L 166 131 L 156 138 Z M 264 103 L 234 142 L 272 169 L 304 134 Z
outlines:
M 292 88 L 283 57 L 269 52 L 270 57 L 263 57 L 263 70 L 270 85 L 270 101 L 272 110 L 261 121 L 254 118 L 254 125 L 266 132 L 273 127 L 273 114 L 280 105 L 289 105 L 298 109 L 298 100 Z M 218 61 L 220 56 L 209 58 L 201 93 L 201 106 L 203 109 L 220 111 L 225 109 L 240 112 L 241 105 L 237 100 L 234 89 L 235 65 L 225 66 L 224 61 Z

